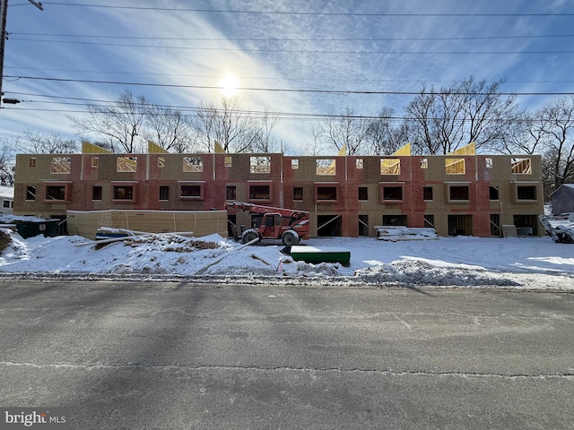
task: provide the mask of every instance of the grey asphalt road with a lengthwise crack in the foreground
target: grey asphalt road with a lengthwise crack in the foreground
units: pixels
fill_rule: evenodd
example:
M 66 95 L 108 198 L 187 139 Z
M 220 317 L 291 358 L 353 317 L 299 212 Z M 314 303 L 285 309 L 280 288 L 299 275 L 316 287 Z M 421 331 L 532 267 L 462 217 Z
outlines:
M 557 430 L 573 399 L 571 293 L 0 282 L 0 407 L 74 429 Z

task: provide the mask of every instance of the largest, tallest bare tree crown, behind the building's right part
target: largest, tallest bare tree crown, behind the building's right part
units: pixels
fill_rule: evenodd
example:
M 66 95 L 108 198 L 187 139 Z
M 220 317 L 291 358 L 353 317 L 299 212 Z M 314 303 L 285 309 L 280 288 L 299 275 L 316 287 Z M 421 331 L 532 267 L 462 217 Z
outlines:
M 517 109 L 513 96 L 502 97 L 502 83 L 477 82 L 471 76 L 440 90 L 427 90 L 423 84 L 406 107 L 420 150 L 446 154 L 471 142 L 480 148 L 500 140 L 505 127 L 501 119 Z

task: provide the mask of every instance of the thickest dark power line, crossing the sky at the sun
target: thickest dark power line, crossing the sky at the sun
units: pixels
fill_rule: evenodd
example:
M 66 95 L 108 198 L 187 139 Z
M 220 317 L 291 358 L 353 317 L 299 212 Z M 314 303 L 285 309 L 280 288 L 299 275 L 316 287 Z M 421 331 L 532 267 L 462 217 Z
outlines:
M 98 81 L 89 79 L 64 79 L 64 78 L 47 78 L 39 76 L 17 76 L 5 75 L 6 78 L 13 79 L 29 79 L 34 81 L 49 81 L 49 82 L 79 82 L 79 83 L 100 83 L 108 85 L 128 85 L 128 86 L 141 86 L 141 87 L 159 87 L 159 88 L 192 88 L 196 90 L 222 90 L 221 86 L 213 85 L 184 85 L 176 83 L 149 83 L 149 82 L 121 82 L 121 81 Z M 268 91 L 268 92 L 300 92 L 300 93 L 320 93 L 320 94 L 377 94 L 377 95 L 406 95 L 417 96 L 425 94 L 421 91 L 374 91 L 374 90 L 306 90 L 306 89 L 289 89 L 289 88 L 258 88 L 258 87 L 239 87 L 237 90 L 245 91 Z M 427 94 L 443 94 L 441 91 L 427 92 Z M 486 92 L 457 92 L 460 95 L 477 95 L 486 96 Z M 501 96 L 574 96 L 574 92 L 499 92 Z

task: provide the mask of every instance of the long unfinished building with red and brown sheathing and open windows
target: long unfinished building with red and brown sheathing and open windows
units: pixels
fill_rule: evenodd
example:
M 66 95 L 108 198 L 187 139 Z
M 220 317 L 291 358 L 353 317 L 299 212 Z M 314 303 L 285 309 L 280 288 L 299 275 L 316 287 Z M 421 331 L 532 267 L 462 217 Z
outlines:
M 477 155 L 474 145 L 444 156 L 411 155 L 407 145 L 389 156 L 309 157 L 84 144 L 81 154 L 19 154 L 13 213 L 222 211 L 238 201 L 309 211 L 311 236 L 376 236 L 376 226 L 502 236 L 507 225 L 542 236 L 543 196 L 540 156 Z M 257 224 L 239 212 L 229 219 Z

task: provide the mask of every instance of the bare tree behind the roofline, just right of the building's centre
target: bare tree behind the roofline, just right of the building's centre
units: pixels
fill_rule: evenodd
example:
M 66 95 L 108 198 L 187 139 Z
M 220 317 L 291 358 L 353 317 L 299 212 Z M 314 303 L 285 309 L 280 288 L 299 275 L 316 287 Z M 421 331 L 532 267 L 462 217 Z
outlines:
M 361 154 L 369 136 L 369 121 L 354 114 L 347 107 L 340 116 L 327 116 L 317 123 L 317 139 L 327 148 L 341 150 L 346 148 L 346 155 Z

